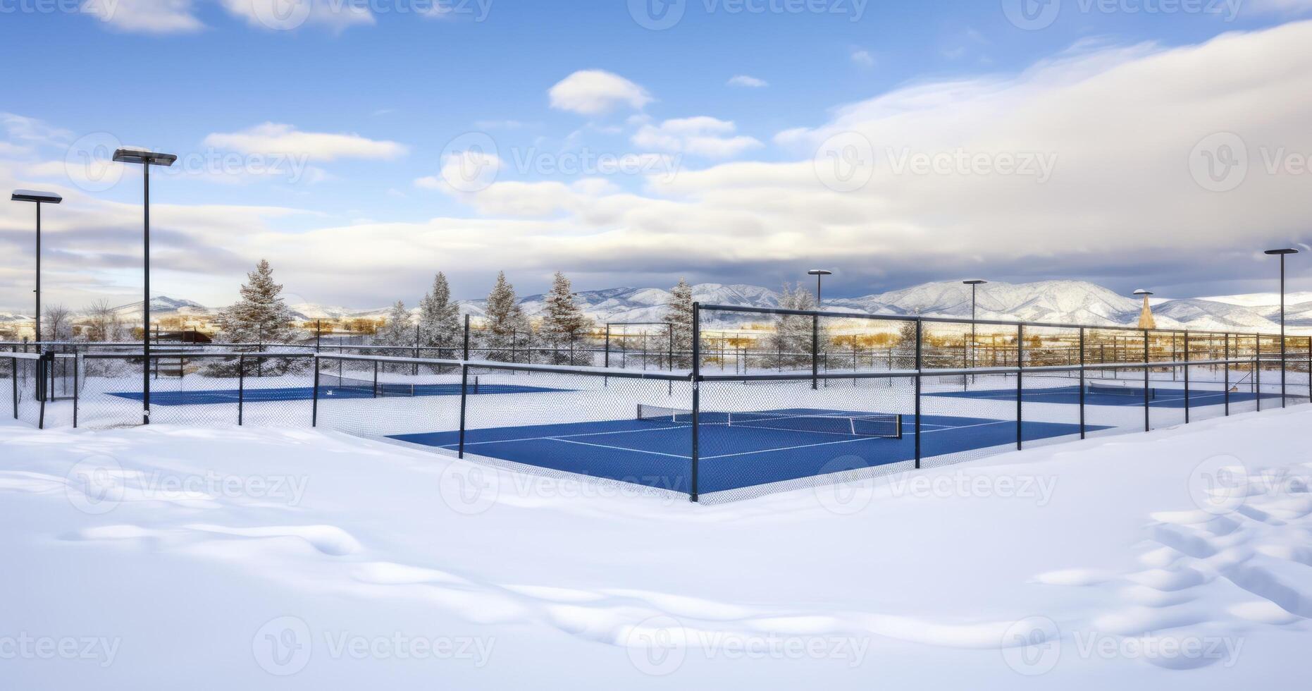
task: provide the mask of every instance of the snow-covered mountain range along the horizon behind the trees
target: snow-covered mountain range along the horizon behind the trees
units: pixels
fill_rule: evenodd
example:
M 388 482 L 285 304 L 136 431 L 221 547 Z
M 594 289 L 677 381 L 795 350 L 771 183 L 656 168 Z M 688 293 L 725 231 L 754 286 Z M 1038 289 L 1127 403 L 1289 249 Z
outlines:
M 530 317 L 542 311 L 544 296 L 521 300 Z M 756 285 L 698 284 L 694 300 L 706 305 L 777 307 L 779 293 Z M 577 293 L 584 311 L 597 322 L 659 322 L 669 301 L 669 290 L 660 288 L 610 288 Z M 140 319 L 140 302 L 117 307 L 123 321 Z M 352 309 L 316 303 L 289 305 L 298 318 L 311 319 L 378 319 L 390 307 Z M 487 301 L 459 302 L 461 311 L 475 317 L 485 313 Z M 1086 281 L 1038 281 L 1026 284 L 991 282 L 977 293 L 981 319 L 1021 319 L 1026 322 L 1082 323 L 1092 326 L 1132 324 L 1139 319 L 1140 301 Z M 829 311 L 869 314 L 921 314 L 926 317 L 970 317 L 971 289 L 956 281 L 929 282 L 901 290 L 863 297 L 827 298 Z M 218 309 L 190 300 L 151 298 L 151 314 L 209 317 Z M 412 310 L 417 311 L 417 309 Z M 1153 314 L 1161 328 L 1199 331 L 1275 331 L 1279 328 L 1279 296 L 1254 293 L 1206 298 L 1153 298 Z M 3 322 L 26 322 L 30 317 L 0 313 Z M 1286 323 L 1312 326 L 1312 293 L 1286 296 Z

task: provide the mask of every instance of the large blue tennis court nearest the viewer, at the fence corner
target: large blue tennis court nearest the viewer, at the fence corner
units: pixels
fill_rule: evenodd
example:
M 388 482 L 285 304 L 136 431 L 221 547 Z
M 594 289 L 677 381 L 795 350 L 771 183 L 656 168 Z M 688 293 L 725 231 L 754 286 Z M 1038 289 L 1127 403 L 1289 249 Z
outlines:
M 869 411 L 783 409 L 765 415 L 851 418 Z M 706 414 L 716 420 L 718 414 Z M 719 414 L 722 415 L 722 414 Z M 900 436 L 883 431 L 849 434 L 829 424 L 815 430 L 781 430 L 718 422 L 699 426 L 699 490 L 752 487 L 850 469 L 886 465 L 916 457 L 914 416 L 900 419 Z M 925 415 L 921 420 L 924 457 L 1015 444 L 1015 420 Z M 1105 430 L 1089 426 L 1088 430 Z M 1027 441 L 1078 435 L 1080 426 L 1023 423 Z M 392 439 L 455 449 L 459 432 L 395 435 Z M 479 456 L 593 477 L 634 482 L 680 493 L 690 490 L 691 426 L 669 419 L 627 419 L 533 424 L 467 430 L 464 451 Z M 836 461 L 842 460 L 837 464 Z

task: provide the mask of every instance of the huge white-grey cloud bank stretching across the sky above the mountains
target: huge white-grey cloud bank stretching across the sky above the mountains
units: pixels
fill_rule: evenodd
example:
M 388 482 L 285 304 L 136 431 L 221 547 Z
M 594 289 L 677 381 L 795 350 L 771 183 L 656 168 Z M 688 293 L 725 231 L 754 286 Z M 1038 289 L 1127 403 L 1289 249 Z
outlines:
M 1305 236 L 1312 177 L 1267 173 L 1263 154 L 1312 151 L 1307 93 L 1312 22 L 1296 22 L 1178 49 L 1085 49 L 1019 75 L 901 88 L 781 133 L 775 141 L 791 148 L 791 160 L 652 175 L 640 194 L 590 181 L 500 181 L 453 196 L 482 218 L 319 222 L 298 233 L 281 230 L 278 219 L 306 221 L 310 213 L 159 204 L 152 223 L 171 235 L 160 250 L 171 254 L 159 265 L 178 268 L 161 275 L 157 289 L 231 301 L 241 271 L 261 256 L 289 290 L 359 306 L 422 294 L 436 269 L 453 276 L 462 297 L 485 293 L 499 269 L 533 290 L 542 285 L 531 281 L 556 269 L 580 279 L 580 288 L 682 272 L 775 285 L 802 259 L 888 281 L 974 275 L 980 267 L 998 276 L 1141 272 L 1158 285 L 1186 275 L 1199 282 L 1267 276 L 1270 264 L 1250 261 L 1252 248 Z M 1254 102 L 1262 108 L 1254 110 Z M 733 135 L 732 123 L 716 118 L 642 125 L 676 146 L 694 134 Z M 817 163 L 833 163 L 816 160 L 820 145 L 844 133 L 859 134 L 878 152 L 870 181 L 853 192 L 827 188 L 817 175 Z M 1227 193 L 1203 189 L 1189 167 L 1194 147 L 1215 133 L 1239 135 L 1249 154 L 1246 180 Z M 951 156 L 959 148 L 1051 154 L 1057 167 L 1046 183 L 891 167 L 890 154 L 904 150 Z M 0 159 L 0 189 L 28 187 L 31 168 Z M 445 183 L 434 176 L 413 184 L 450 190 Z M 89 290 L 136 269 L 139 204 L 100 201 L 72 185 L 31 187 L 68 192 L 46 227 L 52 247 L 77 255 L 50 257 L 52 286 Z M 17 206 L 0 205 L 0 243 L 13 239 L 0 244 L 0 305 L 26 305 L 30 296 L 30 217 Z M 382 217 L 367 209 L 353 215 Z M 51 290 L 52 301 L 80 305 Z

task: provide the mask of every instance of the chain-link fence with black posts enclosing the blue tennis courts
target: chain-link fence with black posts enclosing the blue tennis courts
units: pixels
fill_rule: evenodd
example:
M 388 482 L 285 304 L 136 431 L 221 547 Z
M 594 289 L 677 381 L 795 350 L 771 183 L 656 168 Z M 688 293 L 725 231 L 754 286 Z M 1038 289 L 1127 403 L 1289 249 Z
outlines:
M 690 349 L 672 334 L 499 340 L 484 324 L 459 348 L 224 344 L 148 363 L 139 344 L 64 344 L 0 353 L 0 381 L 34 426 L 312 424 L 698 501 L 1312 398 L 1303 335 L 715 305 L 694 309 Z

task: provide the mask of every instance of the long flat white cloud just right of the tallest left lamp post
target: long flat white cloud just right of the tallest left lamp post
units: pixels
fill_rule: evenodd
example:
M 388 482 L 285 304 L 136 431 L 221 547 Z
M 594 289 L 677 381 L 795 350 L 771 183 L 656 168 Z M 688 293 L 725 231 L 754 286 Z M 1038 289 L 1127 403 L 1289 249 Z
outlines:
M 298 131 L 291 125 L 265 122 L 235 133 L 214 133 L 206 146 L 231 148 L 244 154 L 286 154 L 315 160 L 395 159 L 407 148 L 396 142 L 367 139 L 358 134 Z

